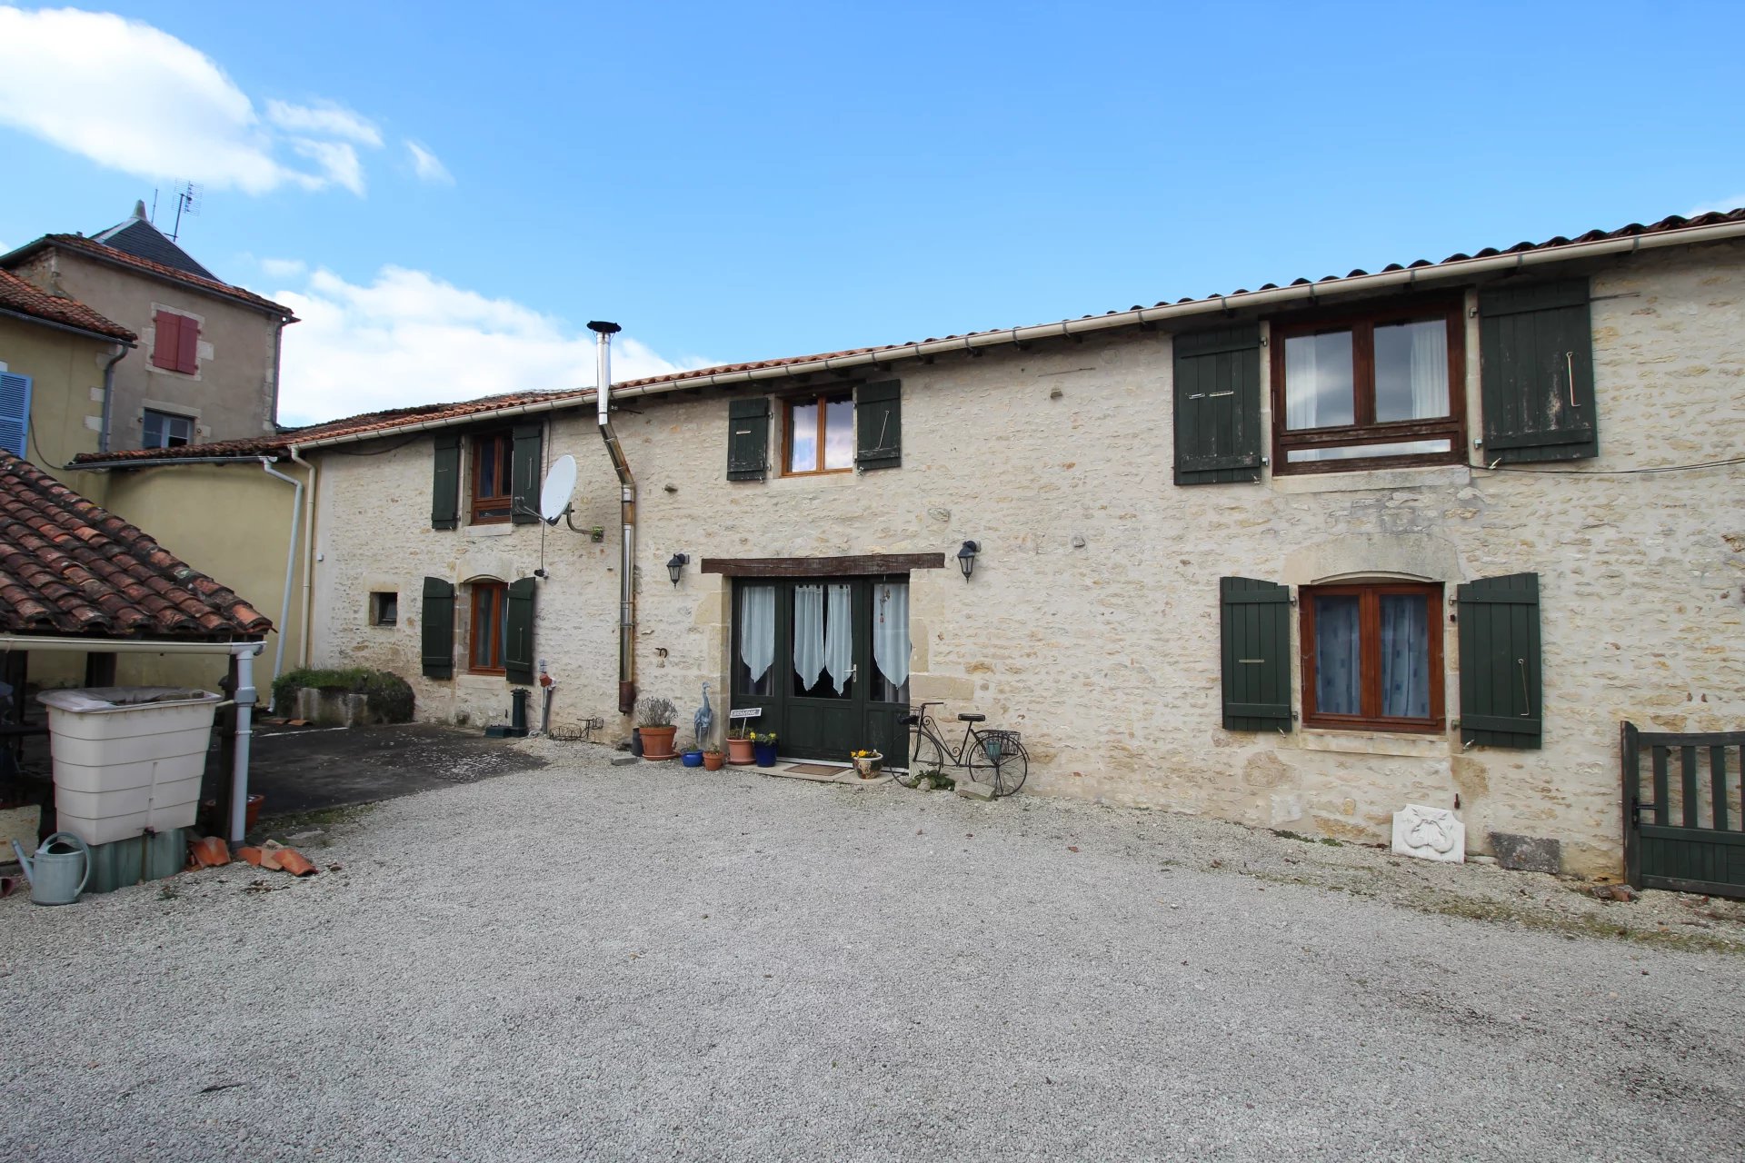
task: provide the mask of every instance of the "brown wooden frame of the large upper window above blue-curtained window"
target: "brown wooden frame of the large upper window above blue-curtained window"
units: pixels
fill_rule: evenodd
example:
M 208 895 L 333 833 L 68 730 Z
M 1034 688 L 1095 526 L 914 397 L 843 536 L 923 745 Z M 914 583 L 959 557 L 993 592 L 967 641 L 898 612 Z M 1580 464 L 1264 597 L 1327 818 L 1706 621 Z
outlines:
M 1399 469 L 1427 464 L 1466 464 L 1466 303 L 1461 298 L 1419 300 L 1398 307 L 1324 312 L 1309 317 L 1274 319 L 1272 335 L 1272 473 L 1358 473 L 1363 469 Z M 1448 415 L 1433 420 L 1375 420 L 1375 324 L 1443 319 L 1448 328 Z M 1297 335 L 1351 331 L 1354 424 L 1340 427 L 1286 431 L 1284 342 Z M 1342 460 L 1298 460 L 1291 452 L 1304 448 L 1349 448 L 1352 445 L 1394 445 L 1413 439 L 1447 439 L 1448 452 L 1405 453 L 1394 457 L 1349 457 Z

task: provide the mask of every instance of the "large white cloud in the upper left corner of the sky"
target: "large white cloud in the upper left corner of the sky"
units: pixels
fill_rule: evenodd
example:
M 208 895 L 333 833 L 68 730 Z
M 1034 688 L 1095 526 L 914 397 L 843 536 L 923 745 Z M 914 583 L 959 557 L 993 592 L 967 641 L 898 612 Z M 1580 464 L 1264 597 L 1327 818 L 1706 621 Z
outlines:
M 110 12 L 0 5 L 0 126 L 140 178 L 361 195 L 356 146 L 382 145 L 375 124 L 333 101 L 267 101 L 262 119 L 209 56 Z

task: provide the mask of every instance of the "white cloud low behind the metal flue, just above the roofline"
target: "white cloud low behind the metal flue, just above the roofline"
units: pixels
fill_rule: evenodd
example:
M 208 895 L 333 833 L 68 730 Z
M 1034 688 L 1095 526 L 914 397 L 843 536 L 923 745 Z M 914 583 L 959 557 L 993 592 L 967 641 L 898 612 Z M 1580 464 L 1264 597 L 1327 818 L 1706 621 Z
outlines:
M 424 270 L 384 267 L 368 284 L 316 270 L 300 291 L 272 298 L 302 319 L 284 331 L 283 424 L 593 385 L 590 331 Z M 663 359 L 633 338 L 612 343 L 614 380 L 698 366 L 703 361 Z

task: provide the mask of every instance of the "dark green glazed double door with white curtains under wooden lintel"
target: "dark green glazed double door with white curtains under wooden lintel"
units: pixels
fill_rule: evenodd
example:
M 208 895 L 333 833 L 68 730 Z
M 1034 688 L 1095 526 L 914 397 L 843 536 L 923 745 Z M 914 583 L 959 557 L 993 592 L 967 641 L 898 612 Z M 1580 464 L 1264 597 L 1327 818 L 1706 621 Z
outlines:
M 909 577 L 740 577 L 733 586 L 733 708 L 759 708 L 792 758 L 907 762 Z

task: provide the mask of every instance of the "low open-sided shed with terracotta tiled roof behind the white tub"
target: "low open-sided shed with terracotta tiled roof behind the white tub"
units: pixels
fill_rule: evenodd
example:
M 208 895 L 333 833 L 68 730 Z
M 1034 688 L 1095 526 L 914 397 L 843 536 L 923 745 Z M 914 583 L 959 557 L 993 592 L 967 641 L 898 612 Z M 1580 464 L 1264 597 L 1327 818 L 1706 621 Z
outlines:
M 35 464 L 0 452 L 0 739 L 16 743 L 23 734 L 45 732 L 42 708 L 26 699 L 28 687 L 42 682 L 44 663 L 77 664 L 82 685 L 155 684 L 159 654 L 101 647 L 117 640 L 257 642 L 270 628 L 236 591 L 138 527 Z M 56 643 L 52 652 L 21 645 L 49 640 Z M 84 652 L 82 640 L 91 640 L 92 650 Z M 183 661 L 197 668 L 192 684 L 220 689 L 225 657 Z M 14 765 L 3 771 L 16 776 Z M 0 781 L 0 833 L 33 840 L 37 799 L 16 778 Z

